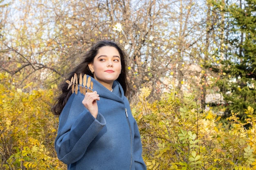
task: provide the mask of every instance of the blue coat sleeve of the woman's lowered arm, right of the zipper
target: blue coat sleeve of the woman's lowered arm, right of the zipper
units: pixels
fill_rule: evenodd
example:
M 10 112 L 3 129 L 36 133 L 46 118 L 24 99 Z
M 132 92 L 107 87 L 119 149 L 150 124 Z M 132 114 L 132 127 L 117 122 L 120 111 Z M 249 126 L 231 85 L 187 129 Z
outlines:
M 135 160 L 135 170 L 146 170 L 146 164 L 141 156 L 142 154 L 142 144 L 139 134 L 139 129 L 137 122 L 134 121 L 134 144 L 133 144 L 134 160 Z

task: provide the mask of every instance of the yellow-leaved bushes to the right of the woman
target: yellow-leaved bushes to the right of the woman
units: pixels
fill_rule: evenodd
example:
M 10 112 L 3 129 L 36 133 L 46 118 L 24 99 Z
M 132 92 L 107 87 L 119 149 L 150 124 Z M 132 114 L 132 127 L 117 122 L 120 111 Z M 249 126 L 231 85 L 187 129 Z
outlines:
M 237 114 L 224 126 L 192 96 L 166 94 L 160 101 L 132 105 L 148 170 L 255 169 L 255 123 L 245 129 Z M 252 113 L 252 109 L 247 110 Z M 142 113 L 142 114 L 141 114 Z M 247 119 L 255 122 L 255 117 Z M 159 164 L 157 164 L 159 163 Z

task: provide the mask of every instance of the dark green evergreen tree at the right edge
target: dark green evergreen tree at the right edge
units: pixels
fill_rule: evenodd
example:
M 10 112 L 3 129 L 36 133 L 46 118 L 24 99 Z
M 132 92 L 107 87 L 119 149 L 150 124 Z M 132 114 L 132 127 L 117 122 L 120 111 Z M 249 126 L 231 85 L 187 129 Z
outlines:
M 226 4 L 223 11 L 228 50 L 222 58 L 218 86 L 225 115 L 233 110 L 243 120 L 248 106 L 256 110 L 256 0 Z

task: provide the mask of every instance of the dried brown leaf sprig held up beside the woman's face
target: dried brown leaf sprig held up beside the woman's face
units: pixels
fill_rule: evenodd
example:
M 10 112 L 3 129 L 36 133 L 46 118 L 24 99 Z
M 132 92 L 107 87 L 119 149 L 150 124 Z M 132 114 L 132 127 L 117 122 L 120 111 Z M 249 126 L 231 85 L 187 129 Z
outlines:
M 67 89 L 72 88 L 72 93 L 76 93 L 78 92 L 78 88 L 79 91 L 81 93 L 83 93 L 85 95 L 85 93 L 87 92 L 93 92 L 92 88 L 93 88 L 93 82 L 91 81 L 91 77 L 87 78 L 87 75 L 83 75 L 82 73 L 80 73 L 79 76 L 79 84 L 78 84 L 78 79 L 77 79 L 77 74 L 74 73 L 74 76 L 71 78 L 71 80 L 66 80 L 66 83 L 68 84 Z

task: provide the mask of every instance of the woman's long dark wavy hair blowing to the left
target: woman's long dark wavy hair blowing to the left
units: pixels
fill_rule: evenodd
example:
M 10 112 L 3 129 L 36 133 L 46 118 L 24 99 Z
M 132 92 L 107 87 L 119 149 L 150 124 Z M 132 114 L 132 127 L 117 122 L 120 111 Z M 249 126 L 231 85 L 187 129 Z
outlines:
M 126 53 L 115 43 L 109 40 L 99 41 L 92 46 L 92 48 L 85 53 L 83 56 L 83 61 L 76 66 L 71 73 L 68 74 L 67 79 L 70 80 L 74 73 L 77 75 L 90 75 L 93 77 L 92 72 L 90 71 L 88 64 L 93 63 L 94 57 L 98 54 L 99 49 L 103 46 L 112 46 L 117 49 L 119 55 L 121 57 L 121 74 L 117 78 L 117 81 L 121 84 L 124 94 L 128 91 L 128 82 L 127 82 L 127 71 L 126 71 Z M 79 76 L 78 76 L 79 79 Z M 52 107 L 52 113 L 54 115 L 60 115 L 63 110 L 65 104 L 67 103 L 68 98 L 72 94 L 71 88 L 67 89 L 68 84 L 64 81 L 61 85 L 61 94 L 55 99 L 54 106 Z

